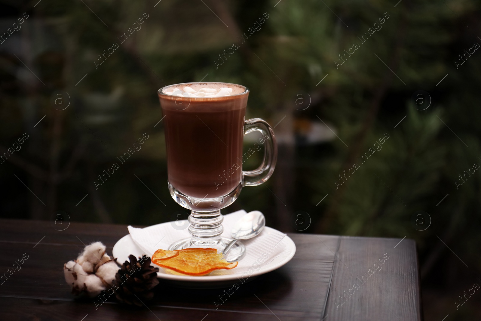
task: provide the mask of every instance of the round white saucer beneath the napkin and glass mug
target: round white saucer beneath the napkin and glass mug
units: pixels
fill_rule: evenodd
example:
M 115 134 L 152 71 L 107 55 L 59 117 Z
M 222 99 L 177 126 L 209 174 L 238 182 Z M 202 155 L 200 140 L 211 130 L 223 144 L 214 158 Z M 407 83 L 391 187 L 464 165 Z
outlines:
M 165 222 L 162 224 L 171 223 Z M 276 231 L 267 226 L 265 227 L 265 229 L 267 231 Z M 296 245 L 294 244 L 294 242 L 289 236 L 286 235 L 278 244 L 278 246 L 283 247 L 280 253 L 275 255 L 273 258 L 267 259 L 266 262 L 264 262 L 260 266 L 257 266 L 257 268 L 253 269 L 253 272 L 249 274 L 246 274 L 244 272 L 223 275 L 212 275 L 211 273 L 210 275 L 206 276 L 176 275 L 165 272 L 163 268 L 153 263 L 152 266 L 159 268 L 159 272 L 157 272 L 158 278 L 163 279 L 165 282 L 170 283 L 174 286 L 185 288 L 221 288 L 232 285 L 233 281 L 239 281 L 241 278 L 244 278 L 246 281 L 251 281 L 254 277 L 276 270 L 289 262 L 296 253 Z M 246 251 L 249 251 L 248 246 L 246 246 Z M 130 234 L 127 234 L 126 236 L 118 240 L 117 243 L 115 243 L 114 249 L 112 250 L 112 255 L 114 257 L 117 257 L 118 263 L 123 264 L 125 261 L 128 261 L 128 256 L 130 254 L 135 255 L 136 257 L 141 257 L 143 251 L 139 248 L 139 246 L 137 246 L 137 244 L 132 241 Z M 235 272 L 235 268 L 230 271 Z

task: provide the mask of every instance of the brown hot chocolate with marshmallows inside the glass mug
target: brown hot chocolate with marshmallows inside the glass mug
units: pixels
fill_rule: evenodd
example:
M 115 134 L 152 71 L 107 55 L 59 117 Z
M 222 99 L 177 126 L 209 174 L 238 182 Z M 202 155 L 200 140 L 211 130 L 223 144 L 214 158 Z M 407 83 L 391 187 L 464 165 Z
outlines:
M 214 89 L 215 95 L 223 94 L 187 95 L 190 89 L 184 92 L 186 87 L 192 92 Z M 172 94 L 175 90 L 185 95 Z M 228 95 L 224 95 L 226 91 Z M 214 198 L 227 195 L 241 183 L 248 95 L 245 87 L 228 83 L 173 85 L 159 91 L 165 116 L 168 180 L 180 193 Z

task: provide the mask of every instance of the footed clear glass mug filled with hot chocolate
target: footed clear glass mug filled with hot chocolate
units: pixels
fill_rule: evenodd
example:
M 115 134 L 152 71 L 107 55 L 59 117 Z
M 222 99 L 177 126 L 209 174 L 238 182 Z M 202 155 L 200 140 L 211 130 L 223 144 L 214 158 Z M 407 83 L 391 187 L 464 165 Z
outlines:
M 202 98 L 166 94 L 186 86 L 194 90 L 227 87 L 232 92 L 230 96 Z M 272 175 L 277 161 L 274 131 L 260 118 L 245 120 L 249 90 L 241 85 L 183 83 L 161 88 L 158 95 L 165 117 L 167 185 L 172 198 L 191 211 L 191 237 L 172 244 L 169 250 L 211 247 L 220 253 L 231 241 L 221 237 L 220 210 L 237 199 L 243 186 L 260 185 Z M 261 132 L 263 138 L 242 154 L 243 136 L 253 131 Z M 242 163 L 263 147 L 261 165 L 243 171 Z M 226 259 L 236 260 L 244 252 L 244 245 L 237 242 Z

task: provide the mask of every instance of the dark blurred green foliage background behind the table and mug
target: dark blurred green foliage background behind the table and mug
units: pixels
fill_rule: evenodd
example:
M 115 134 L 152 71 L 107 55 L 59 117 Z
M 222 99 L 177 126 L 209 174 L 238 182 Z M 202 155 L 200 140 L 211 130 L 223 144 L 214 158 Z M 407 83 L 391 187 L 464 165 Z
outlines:
M 247 117 L 276 126 L 278 165 L 223 213 L 415 239 L 425 320 L 481 318 L 481 295 L 454 303 L 481 283 L 479 1 L 157 1 L 0 1 L 0 217 L 187 213 L 167 190 L 156 90 L 238 83 Z

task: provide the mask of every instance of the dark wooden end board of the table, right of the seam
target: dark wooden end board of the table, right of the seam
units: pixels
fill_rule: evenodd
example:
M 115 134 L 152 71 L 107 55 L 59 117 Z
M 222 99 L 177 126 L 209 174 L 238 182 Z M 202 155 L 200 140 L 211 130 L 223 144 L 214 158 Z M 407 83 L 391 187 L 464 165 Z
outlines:
M 329 319 L 421 320 L 416 244 L 400 241 L 341 237 L 325 312 Z

